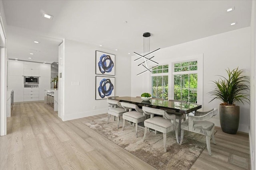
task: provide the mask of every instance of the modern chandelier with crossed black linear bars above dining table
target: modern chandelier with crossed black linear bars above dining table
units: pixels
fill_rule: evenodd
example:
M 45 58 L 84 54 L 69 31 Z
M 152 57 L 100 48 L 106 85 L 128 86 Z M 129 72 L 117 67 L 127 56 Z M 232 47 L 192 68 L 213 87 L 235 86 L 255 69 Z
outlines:
M 140 55 L 140 54 L 138 54 L 138 53 L 135 53 L 135 52 L 134 52 L 134 54 L 136 54 L 136 55 L 138 55 L 138 56 L 140 57 L 140 58 L 138 58 L 138 59 L 135 59 L 134 61 L 137 61 L 137 60 L 143 58 L 143 59 L 144 59 L 144 62 L 138 64 L 138 66 L 143 66 L 144 68 L 146 68 L 145 71 L 143 71 L 143 72 L 137 74 L 137 76 L 139 76 L 140 74 L 142 74 L 142 73 L 144 73 L 144 72 L 147 72 L 147 71 L 148 71 L 148 72 L 152 72 L 151 70 L 152 70 L 153 68 L 155 68 L 155 67 L 158 66 L 158 63 L 156 63 L 155 61 L 151 60 L 154 56 L 153 56 L 153 57 L 150 57 L 150 54 L 155 53 L 156 51 L 160 50 L 160 48 L 157 49 L 157 50 L 155 50 L 155 51 L 150 52 L 150 36 L 151 36 L 150 33 L 143 33 L 143 37 L 144 37 L 143 56 Z M 148 57 L 147 57 L 147 56 L 148 56 Z M 150 66 L 148 65 L 148 64 L 149 64 L 149 61 L 151 61 L 151 62 L 153 62 L 153 63 L 155 63 L 155 64 L 157 64 L 157 65 L 154 66 L 154 67 L 152 67 L 152 68 L 150 68 Z M 145 66 L 145 65 L 146 65 L 146 66 Z

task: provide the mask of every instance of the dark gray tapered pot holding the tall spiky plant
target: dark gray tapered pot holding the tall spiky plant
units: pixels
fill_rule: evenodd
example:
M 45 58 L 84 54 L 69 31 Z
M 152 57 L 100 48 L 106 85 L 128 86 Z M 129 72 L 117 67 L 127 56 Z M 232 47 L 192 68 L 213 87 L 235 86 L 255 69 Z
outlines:
M 239 127 L 240 107 L 220 105 L 220 126 L 223 132 L 236 134 Z

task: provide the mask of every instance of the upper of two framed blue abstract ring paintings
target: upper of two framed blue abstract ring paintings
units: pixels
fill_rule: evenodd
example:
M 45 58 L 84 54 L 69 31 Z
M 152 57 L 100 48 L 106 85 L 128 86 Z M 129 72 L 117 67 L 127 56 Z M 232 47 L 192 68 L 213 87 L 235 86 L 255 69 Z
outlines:
M 96 51 L 96 74 L 115 75 L 115 55 Z

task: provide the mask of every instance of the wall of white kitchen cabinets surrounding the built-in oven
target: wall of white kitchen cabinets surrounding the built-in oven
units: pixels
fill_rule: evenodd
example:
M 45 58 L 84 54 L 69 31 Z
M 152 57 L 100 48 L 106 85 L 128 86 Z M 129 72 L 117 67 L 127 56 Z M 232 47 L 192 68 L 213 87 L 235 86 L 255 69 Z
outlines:
M 14 90 L 14 102 L 44 100 L 44 89 L 51 88 L 50 64 L 9 60 L 8 66 L 8 88 Z M 39 84 L 25 87 L 24 76 L 40 76 Z

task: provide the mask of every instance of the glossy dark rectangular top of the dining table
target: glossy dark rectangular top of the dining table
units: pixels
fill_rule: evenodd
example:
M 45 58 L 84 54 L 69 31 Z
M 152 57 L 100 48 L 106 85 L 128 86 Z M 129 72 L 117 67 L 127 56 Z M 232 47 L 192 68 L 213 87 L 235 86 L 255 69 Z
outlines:
M 197 109 L 202 108 L 202 105 L 192 104 L 192 103 L 181 103 L 181 102 L 171 102 L 167 100 L 156 100 L 150 99 L 149 101 L 143 101 L 141 98 L 136 97 L 109 97 L 110 100 L 117 100 L 119 102 L 127 102 L 136 104 L 138 106 L 147 106 L 156 109 L 164 109 L 170 112 L 176 113 L 191 113 L 192 111 L 196 111 Z

